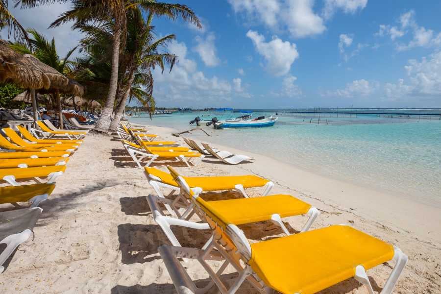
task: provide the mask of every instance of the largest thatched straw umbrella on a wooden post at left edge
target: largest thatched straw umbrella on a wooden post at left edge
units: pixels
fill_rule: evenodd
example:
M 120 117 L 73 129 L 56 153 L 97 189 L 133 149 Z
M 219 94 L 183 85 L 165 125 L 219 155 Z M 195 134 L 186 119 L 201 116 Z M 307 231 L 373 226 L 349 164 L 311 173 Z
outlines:
M 0 81 L 12 82 L 30 89 L 34 120 L 38 120 L 35 90 L 63 89 L 69 79 L 30 54 L 19 54 L 0 40 Z

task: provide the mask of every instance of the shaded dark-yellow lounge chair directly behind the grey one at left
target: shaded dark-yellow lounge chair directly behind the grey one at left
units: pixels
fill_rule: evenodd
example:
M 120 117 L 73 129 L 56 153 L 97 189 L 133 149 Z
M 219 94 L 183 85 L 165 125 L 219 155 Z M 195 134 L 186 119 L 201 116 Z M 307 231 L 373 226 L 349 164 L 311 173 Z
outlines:
M 37 207 L 48 199 L 55 189 L 55 184 L 32 184 L 24 186 L 0 187 L 0 204 L 12 203 L 19 208 L 17 202 L 31 202 L 30 207 Z

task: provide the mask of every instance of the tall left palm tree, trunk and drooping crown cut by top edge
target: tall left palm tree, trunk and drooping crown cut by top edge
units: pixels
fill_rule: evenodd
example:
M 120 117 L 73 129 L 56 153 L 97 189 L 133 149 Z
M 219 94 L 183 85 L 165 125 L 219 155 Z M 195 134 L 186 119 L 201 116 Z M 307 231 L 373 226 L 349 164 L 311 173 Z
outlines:
M 109 92 L 101 117 L 95 126 L 95 129 L 98 131 L 107 132 L 113 114 L 118 87 L 120 46 L 125 43 L 126 37 L 126 11 L 134 7 L 141 7 L 145 11 L 149 11 L 155 15 L 165 15 L 172 19 L 180 16 L 182 19 L 188 20 L 191 23 L 196 24 L 198 27 L 201 27 L 201 24 L 193 10 L 188 6 L 157 3 L 155 0 L 73 0 L 72 5 L 72 9 L 62 13 L 59 18 L 50 25 L 50 27 L 58 26 L 69 21 L 74 21 L 76 27 L 94 22 L 100 23 L 110 20 L 114 21 L 111 57 L 112 71 Z

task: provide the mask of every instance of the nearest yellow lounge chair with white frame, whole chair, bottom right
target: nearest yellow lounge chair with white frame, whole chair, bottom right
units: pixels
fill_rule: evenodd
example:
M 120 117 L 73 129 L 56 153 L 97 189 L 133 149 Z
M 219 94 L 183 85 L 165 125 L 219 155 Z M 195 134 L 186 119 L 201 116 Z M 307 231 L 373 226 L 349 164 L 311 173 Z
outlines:
M 234 294 L 245 280 L 260 293 L 275 290 L 283 294 L 312 294 L 351 277 L 373 294 L 366 270 L 393 259 L 395 267 L 381 291 L 390 294 L 407 263 L 407 256 L 397 247 L 346 225 L 251 244 L 230 216 L 211 201 L 200 197 L 192 201 L 213 231 L 210 244 L 202 250 L 167 245 L 158 248 L 178 294 L 205 293 L 214 284 L 221 293 Z M 197 259 L 212 282 L 198 288 L 178 260 L 181 257 Z M 222 259 L 217 272 L 206 262 Z M 220 279 L 228 264 L 239 272 L 231 286 Z

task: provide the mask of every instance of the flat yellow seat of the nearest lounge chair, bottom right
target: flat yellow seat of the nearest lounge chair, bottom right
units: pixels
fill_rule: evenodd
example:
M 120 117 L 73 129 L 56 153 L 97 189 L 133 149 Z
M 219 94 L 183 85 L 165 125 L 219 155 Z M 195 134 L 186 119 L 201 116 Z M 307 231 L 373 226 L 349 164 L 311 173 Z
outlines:
M 394 250 L 350 226 L 334 225 L 251 244 L 248 264 L 271 288 L 316 293 L 393 258 Z

